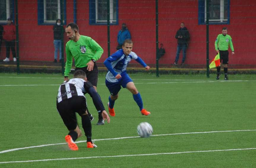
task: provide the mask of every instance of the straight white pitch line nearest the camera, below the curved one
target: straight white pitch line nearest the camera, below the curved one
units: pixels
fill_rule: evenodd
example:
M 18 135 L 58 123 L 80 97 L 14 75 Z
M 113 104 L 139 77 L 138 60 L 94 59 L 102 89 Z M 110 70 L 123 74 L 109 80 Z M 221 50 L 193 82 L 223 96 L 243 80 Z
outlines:
M 74 159 L 130 157 L 130 156 L 171 155 L 171 154 L 200 153 L 200 152 L 242 151 L 242 150 L 253 150 L 253 149 L 256 149 L 256 148 L 221 149 L 221 150 L 209 150 L 209 151 L 187 151 L 187 152 L 170 152 L 170 153 L 148 153 L 148 154 L 136 154 L 136 155 L 91 156 L 91 157 L 80 157 L 80 158 L 59 158 L 59 159 L 42 159 L 42 160 L 27 160 L 27 161 L 4 161 L 4 162 L 0 162 L 0 164 L 1 163 L 3 164 L 3 163 L 36 162 L 36 161 L 55 161 L 55 160 L 74 160 Z

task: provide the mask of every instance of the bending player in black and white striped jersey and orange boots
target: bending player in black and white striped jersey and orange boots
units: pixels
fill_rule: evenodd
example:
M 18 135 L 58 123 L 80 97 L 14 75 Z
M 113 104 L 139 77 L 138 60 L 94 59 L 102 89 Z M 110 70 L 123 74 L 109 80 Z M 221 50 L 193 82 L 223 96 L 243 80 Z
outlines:
M 77 70 L 74 73 L 74 78 L 64 81 L 59 89 L 57 95 L 57 110 L 61 118 L 69 130 L 65 140 L 71 150 L 78 150 L 74 143 L 78 137 L 82 136 L 82 131 L 77 125 L 76 112 L 82 118 L 82 127 L 87 137 L 87 148 L 97 147 L 91 140 L 92 125 L 87 112 L 87 102 L 84 94 L 88 93 L 95 105 L 97 111 L 102 112 L 102 117 L 109 123 L 110 118 L 106 113 L 104 105 L 93 85 L 87 81 L 86 74 L 82 70 Z

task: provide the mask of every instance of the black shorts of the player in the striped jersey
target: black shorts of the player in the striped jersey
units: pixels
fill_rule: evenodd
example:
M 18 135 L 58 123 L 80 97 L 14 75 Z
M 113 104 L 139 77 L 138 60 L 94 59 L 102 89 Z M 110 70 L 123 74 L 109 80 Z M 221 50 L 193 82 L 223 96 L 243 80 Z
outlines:
M 57 101 L 57 110 L 68 130 L 74 130 L 77 127 L 76 112 L 82 116 L 86 113 L 86 109 L 87 102 L 84 96 L 74 96 L 60 103 Z

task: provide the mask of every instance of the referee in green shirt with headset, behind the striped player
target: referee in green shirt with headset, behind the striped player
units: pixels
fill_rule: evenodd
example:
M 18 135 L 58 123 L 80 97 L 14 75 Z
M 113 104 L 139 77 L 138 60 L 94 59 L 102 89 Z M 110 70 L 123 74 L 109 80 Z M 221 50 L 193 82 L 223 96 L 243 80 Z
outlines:
M 66 43 L 67 61 L 64 81 L 69 80 L 68 77 L 72 66 L 72 58 L 74 58 L 76 66 L 75 71 L 85 71 L 87 80 L 91 82 L 96 90 L 98 83 L 98 67 L 95 62 L 100 59 L 103 54 L 103 49 L 92 38 L 80 35 L 78 25 L 75 23 L 69 23 L 65 31 L 69 41 Z M 93 117 L 90 113 L 89 116 L 92 121 Z M 102 118 L 101 112 L 98 112 L 98 117 L 97 125 L 103 125 L 104 119 Z

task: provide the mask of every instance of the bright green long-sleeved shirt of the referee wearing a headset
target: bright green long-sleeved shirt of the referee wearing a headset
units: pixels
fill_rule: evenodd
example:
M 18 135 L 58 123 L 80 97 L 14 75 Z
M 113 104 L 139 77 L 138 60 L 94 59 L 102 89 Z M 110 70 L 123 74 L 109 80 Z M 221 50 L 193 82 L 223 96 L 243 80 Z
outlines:
M 103 49 L 101 46 L 88 36 L 80 35 L 80 38 L 77 42 L 69 40 L 66 43 L 66 68 L 64 75 L 69 76 L 71 66 L 72 66 L 72 57 L 75 60 L 75 66 L 77 68 L 86 67 L 86 65 L 91 59 L 98 60 L 103 54 Z

